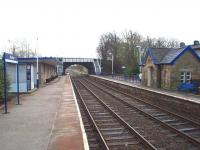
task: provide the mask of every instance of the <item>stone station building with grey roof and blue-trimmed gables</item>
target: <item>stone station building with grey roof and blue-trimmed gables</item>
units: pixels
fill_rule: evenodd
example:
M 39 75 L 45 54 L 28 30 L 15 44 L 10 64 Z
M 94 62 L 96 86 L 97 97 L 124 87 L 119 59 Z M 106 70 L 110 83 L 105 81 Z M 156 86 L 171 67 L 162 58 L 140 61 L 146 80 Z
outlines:
M 180 83 L 200 81 L 200 45 L 178 49 L 148 48 L 142 66 L 142 84 L 177 89 Z

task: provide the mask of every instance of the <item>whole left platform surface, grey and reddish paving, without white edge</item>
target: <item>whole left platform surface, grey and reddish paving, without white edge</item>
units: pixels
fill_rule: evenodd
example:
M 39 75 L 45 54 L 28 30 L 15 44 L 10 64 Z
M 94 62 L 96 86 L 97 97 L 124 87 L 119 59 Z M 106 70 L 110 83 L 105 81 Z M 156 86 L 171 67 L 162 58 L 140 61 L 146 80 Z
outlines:
M 83 149 L 77 107 L 69 85 L 69 79 L 61 77 L 23 95 L 22 105 L 10 104 L 9 114 L 0 110 L 0 150 Z

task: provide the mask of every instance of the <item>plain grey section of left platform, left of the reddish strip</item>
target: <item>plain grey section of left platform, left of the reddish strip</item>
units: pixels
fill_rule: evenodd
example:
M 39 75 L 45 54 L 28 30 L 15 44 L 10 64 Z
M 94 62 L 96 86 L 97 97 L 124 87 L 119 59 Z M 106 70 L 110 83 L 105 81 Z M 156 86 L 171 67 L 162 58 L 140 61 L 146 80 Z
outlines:
M 64 78 L 21 96 L 21 105 L 9 103 L 0 110 L 0 149 L 46 150 L 55 113 L 61 101 Z

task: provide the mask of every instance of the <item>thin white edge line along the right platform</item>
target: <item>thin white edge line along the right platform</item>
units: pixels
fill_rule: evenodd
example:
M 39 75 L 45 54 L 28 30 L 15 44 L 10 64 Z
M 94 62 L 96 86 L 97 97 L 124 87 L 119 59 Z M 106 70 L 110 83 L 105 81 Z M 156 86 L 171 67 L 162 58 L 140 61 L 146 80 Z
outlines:
M 146 90 L 146 91 L 158 93 L 158 94 L 161 94 L 161 95 L 167 95 L 167 93 L 165 93 L 165 92 L 159 92 L 159 91 L 154 91 L 154 90 L 151 90 L 151 89 L 146 89 L 146 88 L 143 88 L 143 87 L 138 87 L 138 86 L 136 86 L 136 85 L 130 85 L 130 84 L 128 84 L 128 83 L 124 83 L 123 81 L 120 82 L 120 81 L 117 81 L 117 80 L 115 80 L 115 79 L 109 79 L 109 78 L 99 77 L 99 76 L 94 76 L 94 75 L 92 75 L 92 76 L 93 76 L 93 77 L 96 77 L 96 78 L 103 79 L 103 80 L 115 82 L 115 83 L 118 83 L 118 84 L 123 84 L 123 85 L 126 85 L 126 86 L 135 87 L 135 88 L 138 88 L 138 89 L 143 89 L 143 90 Z M 167 96 L 169 96 L 169 97 L 174 97 L 174 98 L 178 98 L 178 99 L 182 99 L 182 100 L 189 101 L 189 102 L 196 103 L 196 104 L 200 104 L 200 102 L 195 101 L 195 100 L 190 99 L 190 98 L 184 98 L 184 97 L 175 96 L 175 95 L 172 95 L 172 94 L 167 95 Z

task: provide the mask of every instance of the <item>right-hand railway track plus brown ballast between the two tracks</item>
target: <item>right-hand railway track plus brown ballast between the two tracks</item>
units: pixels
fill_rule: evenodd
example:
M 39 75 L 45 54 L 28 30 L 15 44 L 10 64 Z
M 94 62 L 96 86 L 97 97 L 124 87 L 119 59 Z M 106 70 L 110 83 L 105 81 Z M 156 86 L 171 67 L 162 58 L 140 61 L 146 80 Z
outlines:
M 87 84 L 90 89 L 93 89 L 95 93 L 102 95 L 102 99 L 104 99 L 108 105 L 115 107 L 115 112 L 119 115 L 133 116 L 130 117 L 127 122 L 129 122 L 133 128 L 137 128 L 139 133 L 146 136 L 147 140 L 156 148 L 200 149 L 200 128 L 197 123 L 147 104 L 132 95 L 123 93 L 102 83 L 97 83 L 94 80 L 91 82 L 87 79 L 82 80 L 82 82 Z M 132 119 L 135 122 L 139 122 L 140 125 L 133 123 L 131 121 Z M 141 126 L 145 127 L 142 128 Z M 151 129 L 152 126 L 154 126 L 154 129 Z M 158 133 L 155 128 L 161 132 Z M 152 133 L 150 133 L 151 130 Z M 155 132 L 156 135 L 153 135 L 153 132 Z

